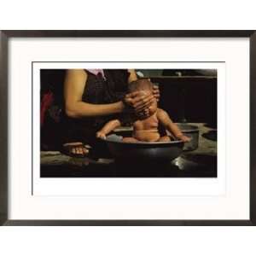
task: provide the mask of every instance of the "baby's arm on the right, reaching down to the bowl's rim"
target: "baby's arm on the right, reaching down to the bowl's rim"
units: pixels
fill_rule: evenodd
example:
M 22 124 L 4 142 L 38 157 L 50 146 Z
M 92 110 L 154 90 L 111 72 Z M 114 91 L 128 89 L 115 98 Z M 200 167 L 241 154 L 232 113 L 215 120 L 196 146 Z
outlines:
M 157 109 L 157 118 L 159 119 L 160 123 L 166 127 L 166 130 L 170 131 L 172 135 L 184 143 L 190 141 L 189 137 L 183 135 L 182 131 L 177 127 L 175 123 L 172 122 L 172 119 L 169 117 L 168 113 L 163 109 Z

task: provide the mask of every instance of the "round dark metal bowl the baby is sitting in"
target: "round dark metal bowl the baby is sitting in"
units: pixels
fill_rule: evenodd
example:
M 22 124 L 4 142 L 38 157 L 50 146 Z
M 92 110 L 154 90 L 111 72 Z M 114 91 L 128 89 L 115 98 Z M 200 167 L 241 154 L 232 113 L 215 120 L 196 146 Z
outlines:
M 182 141 L 167 143 L 123 143 L 121 137 L 110 135 L 105 140 L 110 154 L 118 160 L 174 160 L 183 152 Z

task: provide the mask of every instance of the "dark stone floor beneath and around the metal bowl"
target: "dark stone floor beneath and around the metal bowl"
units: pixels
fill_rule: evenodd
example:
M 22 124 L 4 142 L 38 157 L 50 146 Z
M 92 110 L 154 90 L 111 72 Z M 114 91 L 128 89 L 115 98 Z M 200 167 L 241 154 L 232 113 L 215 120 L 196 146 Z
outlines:
M 127 166 L 110 159 L 78 159 L 58 151 L 42 151 L 41 177 L 217 177 L 217 131 L 204 124 L 191 125 L 199 127 L 199 147 L 183 151 L 172 163 Z

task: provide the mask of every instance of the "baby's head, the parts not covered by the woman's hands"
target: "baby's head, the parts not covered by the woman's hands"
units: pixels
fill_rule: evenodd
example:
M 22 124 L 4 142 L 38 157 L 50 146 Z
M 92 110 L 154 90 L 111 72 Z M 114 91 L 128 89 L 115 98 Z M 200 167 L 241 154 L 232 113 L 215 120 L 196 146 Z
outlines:
M 128 85 L 129 92 L 135 92 L 135 91 L 143 91 L 145 95 L 152 94 L 153 93 L 153 86 L 148 79 L 137 79 L 136 81 L 131 82 Z M 154 101 L 152 102 L 151 106 L 149 107 L 149 113 L 152 115 L 157 110 L 157 101 L 154 98 Z

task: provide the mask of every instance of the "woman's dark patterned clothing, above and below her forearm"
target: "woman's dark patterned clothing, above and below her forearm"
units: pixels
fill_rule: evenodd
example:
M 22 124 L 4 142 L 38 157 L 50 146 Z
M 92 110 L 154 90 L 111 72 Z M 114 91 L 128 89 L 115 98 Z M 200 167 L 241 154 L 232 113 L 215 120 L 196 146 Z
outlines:
M 108 104 L 123 100 L 127 92 L 130 73 L 125 69 L 104 69 L 97 75 L 86 71 L 88 74 L 83 102 L 91 104 Z M 84 117 L 82 119 L 68 118 L 63 115 L 63 143 L 84 142 L 95 143 L 96 131 L 100 130 L 111 119 L 123 119 L 122 114 L 111 114 L 102 117 Z

